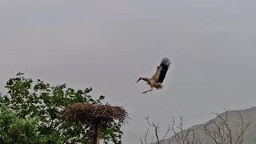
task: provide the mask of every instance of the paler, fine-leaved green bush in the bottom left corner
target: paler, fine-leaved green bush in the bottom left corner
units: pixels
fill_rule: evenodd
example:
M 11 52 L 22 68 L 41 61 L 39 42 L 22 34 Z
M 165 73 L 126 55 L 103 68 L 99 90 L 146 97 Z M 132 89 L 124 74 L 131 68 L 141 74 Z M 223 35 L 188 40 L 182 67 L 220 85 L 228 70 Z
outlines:
M 18 118 L 13 111 L 0 106 L 0 143 L 44 143 L 38 133 L 37 118 Z

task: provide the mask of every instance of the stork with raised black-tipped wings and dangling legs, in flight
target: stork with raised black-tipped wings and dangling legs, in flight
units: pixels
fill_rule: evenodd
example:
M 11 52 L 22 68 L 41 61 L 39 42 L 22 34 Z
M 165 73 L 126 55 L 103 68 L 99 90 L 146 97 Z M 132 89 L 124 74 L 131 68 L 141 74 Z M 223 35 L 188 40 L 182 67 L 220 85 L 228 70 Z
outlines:
M 143 80 L 147 82 L 147 85 L 150 85 L 150 90 L 144 91 L 142 94 L 146 94 L 149 91 L 152 91 L 153 88 L 160 90 L 162 89 L 162 82 L 166 78 L 166 73 L 170 67 L 170 59 L 169 58 L 162 58 L 162 62 L 160 63 L 160 66 L 157 67 L 156 72 L 152 76 L 152 78 L 138 78 L 138 81 Z M 138 82 L 137 81 L 137 82 Z M 136 83 L 137 83 L 136 82 Z

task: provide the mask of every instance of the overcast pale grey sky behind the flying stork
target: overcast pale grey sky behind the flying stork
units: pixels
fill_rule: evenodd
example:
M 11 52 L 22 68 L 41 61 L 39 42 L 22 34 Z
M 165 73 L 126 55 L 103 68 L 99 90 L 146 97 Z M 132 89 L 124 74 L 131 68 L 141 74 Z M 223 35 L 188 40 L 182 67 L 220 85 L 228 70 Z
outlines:
M 256 1 L 143 0 L 0 2 L 0 82 L 22 71 L 67 83 L 126 106 L 123 143 L 139 143 L 146 117 L 183 116 L 185 127 L 211 112 L 256 105 Z M 162 90 L 149 90 L 163 57 L 172 61 Z

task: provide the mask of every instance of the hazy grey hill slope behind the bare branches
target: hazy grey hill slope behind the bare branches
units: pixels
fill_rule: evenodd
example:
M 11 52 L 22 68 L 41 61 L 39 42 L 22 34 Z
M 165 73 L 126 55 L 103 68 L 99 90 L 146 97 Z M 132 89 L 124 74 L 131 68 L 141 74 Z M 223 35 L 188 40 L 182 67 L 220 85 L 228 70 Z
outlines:
M 230 110 L 227 113 L 229 118 L 228 124 L 230 125 L 230 128 L 233 132 L 232 136 L 234 138 L 237 137 L 238 131 L 240 130 L 238 126 L 242 126 L 241 118 L 237 112 L 242 115 L 244 123 L 251 122 L 250 126 L 246 130 L 246 133 L 244 134 L 243 144 L 256 144 L 256 106 L 246 110 Z M 224 116 L 224 114 L 226 113 L 222 113 L 221 116 Z M 216 117 L 214 120 L 218 121 L 219 118 Z M 195 138 L 201 140 L 202 144 L 214 144 L 214 141 L 210 139 L 203 130 L 204 126 L 206 126 L 206 123 L 192 126 L 190 127 L 190 130 L 194 130 Z M 186 133 L 187 130 L 184 131 Z M 167 138 L 166 140 L 163 140 L 161 144 L 177 144 L 175 141 L 170 142 L 173 138 L 174 136 Z M 156 142 L 154 142 L 154 144 L 155 143 Z

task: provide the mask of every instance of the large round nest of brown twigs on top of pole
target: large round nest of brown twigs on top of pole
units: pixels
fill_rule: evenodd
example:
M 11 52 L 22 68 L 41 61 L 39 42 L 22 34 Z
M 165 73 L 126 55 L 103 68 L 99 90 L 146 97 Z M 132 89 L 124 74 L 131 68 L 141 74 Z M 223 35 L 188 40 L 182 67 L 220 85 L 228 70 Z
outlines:
M 75 103 L 66 106 L 64 116 L 71 121 L 104 127 L 114 122 L 114 120 L 124 122 L 128 114 L 120 106 Z

